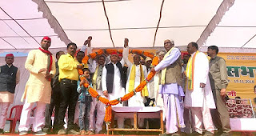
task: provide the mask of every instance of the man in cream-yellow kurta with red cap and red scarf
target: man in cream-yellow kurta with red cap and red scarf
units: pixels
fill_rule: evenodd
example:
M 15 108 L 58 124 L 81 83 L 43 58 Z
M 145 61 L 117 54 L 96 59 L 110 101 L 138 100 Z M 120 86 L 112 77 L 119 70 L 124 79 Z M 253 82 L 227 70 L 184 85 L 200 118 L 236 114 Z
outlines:
M 26 82 L 22 102 L 25 100 L 20 125 L 18 126 L 19 134 L 26 135 L 30 129 L 30 113 L 37 103 L 37 110 L 34 113 L 34 122 L 32 131 L 35 135 L 45 135 L 42 132 L 44 126 L 44 112 L 46 103 L 50 103 L 51 86 L 50 80 L 54 77 L 56 68 L 55 60 L 48 50 L 50 47 L 50 38 L 42 38 L 41 47 L 38 50 L 31 50 L 26 58 L 25 68 L 30 71 L 30 78 Z

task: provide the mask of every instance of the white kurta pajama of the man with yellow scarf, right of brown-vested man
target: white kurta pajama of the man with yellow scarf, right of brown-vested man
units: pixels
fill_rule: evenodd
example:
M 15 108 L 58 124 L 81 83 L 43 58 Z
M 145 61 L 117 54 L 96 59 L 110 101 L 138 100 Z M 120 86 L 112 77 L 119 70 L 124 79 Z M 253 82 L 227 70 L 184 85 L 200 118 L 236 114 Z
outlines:
M 191 58 L 194 54 L 191 55 Z M 200 134 L 202 134 L 202 120 L 205 129 L 214 132 L 210 109 L 215 109 L 215 103 L 208 73 L 209 61 L 206 54 L 199 52 L 194 60 L 194 90 L 188 90 L 188 83 L 186 82 L 185 106 L 191 108 L 194 130 Z M 205 88 L 200 87 L 201 82 L 206 84 Z

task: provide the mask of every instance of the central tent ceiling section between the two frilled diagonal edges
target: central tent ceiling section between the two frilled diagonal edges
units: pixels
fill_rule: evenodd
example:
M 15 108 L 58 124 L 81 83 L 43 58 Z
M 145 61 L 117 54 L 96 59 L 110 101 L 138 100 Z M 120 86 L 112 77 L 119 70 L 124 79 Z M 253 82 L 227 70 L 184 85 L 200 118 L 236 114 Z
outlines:
M 82 45 L 91 35 L 94 46 L 113 47 L 102 1 L 45 2 L 72 42 Z M 155 46 L 162 46 L 167 38 L 174 39 L 177 46 L 197 41 L 221 3 L 222 0 L 164 1 Z M 121 47 L 123 39 L 129 38 L 131 47 L 153 47 L 161 5 L 159 0 L 105 1 L 114 45 Z

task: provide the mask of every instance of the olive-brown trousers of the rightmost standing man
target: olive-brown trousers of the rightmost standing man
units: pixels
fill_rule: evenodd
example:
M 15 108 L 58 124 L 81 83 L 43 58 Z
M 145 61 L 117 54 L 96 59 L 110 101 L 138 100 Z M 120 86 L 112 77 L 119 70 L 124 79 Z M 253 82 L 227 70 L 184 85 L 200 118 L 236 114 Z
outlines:
M 222 100 L 220 90 L 214 90 L 214 101 L 216 109 L 210 110 L 211 117 L 213 118 L 214 126 L 218 128 L 220 132 L 230 132 L 230 114 L 226 108 L 225 102 Z

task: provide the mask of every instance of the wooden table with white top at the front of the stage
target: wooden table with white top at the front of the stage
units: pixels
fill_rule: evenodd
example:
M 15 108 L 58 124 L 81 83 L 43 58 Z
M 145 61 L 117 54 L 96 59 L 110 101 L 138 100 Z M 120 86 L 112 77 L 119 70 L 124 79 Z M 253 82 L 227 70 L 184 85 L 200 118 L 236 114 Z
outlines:
M 114 128 L 114 117 L 115 116 L 123 118 L 134 118 L 134 128 Z M 160 128 L 159 129 L 139 129 L 138 128 L 138 118 L 160 118 Z M 164 133 L 163 128 L 163 117 L 162 117 L 162 108 L 159 106 L 116 106 L 112 107 L 112 121 L 107 129 L 107 134 L 112 131 L 146 131 L 146 132 L 160 132 Z

